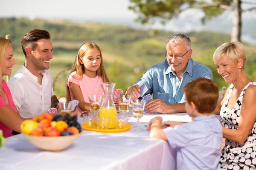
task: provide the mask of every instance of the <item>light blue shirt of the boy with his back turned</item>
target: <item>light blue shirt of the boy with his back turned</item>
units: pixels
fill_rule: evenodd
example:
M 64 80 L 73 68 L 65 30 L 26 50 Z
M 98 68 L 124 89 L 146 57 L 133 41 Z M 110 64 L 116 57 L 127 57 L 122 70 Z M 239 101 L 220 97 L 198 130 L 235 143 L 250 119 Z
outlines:
M 222 125 L 218 117 L 199 116 L 163 129 L 171 147 L 177 148 L 177 170 L 220 170 Z

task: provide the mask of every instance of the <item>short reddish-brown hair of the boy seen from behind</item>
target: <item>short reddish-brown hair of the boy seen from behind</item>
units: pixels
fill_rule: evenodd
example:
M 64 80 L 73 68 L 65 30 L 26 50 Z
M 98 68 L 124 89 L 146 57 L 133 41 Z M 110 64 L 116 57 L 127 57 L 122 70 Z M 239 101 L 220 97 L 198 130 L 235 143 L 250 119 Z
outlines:
M 193 102 L 199 113 L 212 113 L 217 105 L 219 88 L 210 79 L 199 77 L 184 86 L 186 102 Z

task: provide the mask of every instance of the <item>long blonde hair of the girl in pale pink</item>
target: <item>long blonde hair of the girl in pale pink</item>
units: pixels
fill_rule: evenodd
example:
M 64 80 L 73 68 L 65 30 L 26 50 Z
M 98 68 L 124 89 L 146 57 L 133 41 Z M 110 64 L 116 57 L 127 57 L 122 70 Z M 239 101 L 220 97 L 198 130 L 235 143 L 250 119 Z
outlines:
M 97 76 L 102 77 L 103 82 L 109 82 L 108 74 L 107 74 L 107 72 L 105 71 L 105 68 L 104 68 L 102 53 L 99 49 L 99 46 L 95 42 L 92 42 L 92 41 L 87 41 L 87 42 L 83 43 L 80 46 L 79 50 L 77 51 L 76 59 L 75 59 L 75 62 L 73 64 L 73 67 L 70 71 L 70 74 L 73 73 L 74 71 L 76 71 L 76 74 L 79 77 L 74 77 L 74 78 L 76 78 L 76 79 L 82 79 L 83 78 L 83 74 L 84 74 L 85 69 L 84 69 L 84 65 L 79 62 L 79 58 L 82 59 L 84 57 L 84 55 L 88 51 L 90 51 L 91 49 L 97 49 L 97 50 L 99 50 L 99 53 L 100 53 L 101 62 L 100 62 L 99 69 L 96 71 Z M 68 74 L 68 76 L 65 80 L 67 102 L 69 102 L 71 100 L 70 90 L 69 90 L 69 87 L 67 85 L 67 80 L 68 80 L 68 77 L 70 76 L 70 74 Z

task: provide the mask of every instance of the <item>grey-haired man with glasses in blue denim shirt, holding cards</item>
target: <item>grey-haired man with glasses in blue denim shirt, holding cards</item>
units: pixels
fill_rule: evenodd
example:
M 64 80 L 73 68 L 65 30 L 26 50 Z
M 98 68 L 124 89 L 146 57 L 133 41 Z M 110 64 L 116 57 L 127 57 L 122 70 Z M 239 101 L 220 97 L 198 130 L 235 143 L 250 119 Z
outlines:
M 212 70 L 191 58 L 191 40 L 184 34 L 173 34 L 166 42 L 166 60 L 151 66 L 125 94 L 132 99 L 140 98 L 141 85 L 148 91 L 142 96 L 153 94 L 146 104 L 148 113 L 181 113 L 185 111 L 185 95 L 182 88 L 193 79 L 212 79 Z

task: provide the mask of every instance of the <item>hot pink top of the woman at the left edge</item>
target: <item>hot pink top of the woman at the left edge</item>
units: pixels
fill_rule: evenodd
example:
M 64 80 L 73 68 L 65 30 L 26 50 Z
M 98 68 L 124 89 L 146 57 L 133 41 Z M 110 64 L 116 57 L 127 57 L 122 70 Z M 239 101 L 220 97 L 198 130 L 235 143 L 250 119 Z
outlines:
M 14 111 L 17 112 L 17 109 L 15 107 L 15 104 L 12 100 L 12 94 L 11 94 L 11 91 L 10 89 L 8 88 L 6 82 L 2 79 L 2 88 L 3 88 L 3 91 L 5 92 L 6 96 L 7 96 L 7 99 L 8 99 L 8 103 L 7 104 L 4 99 L 3 99 L 3 96 L 0 94 L 0 108 L 2 108 L 3 106 L 5 105 L 9 105 Z M 0 113 L 1 114 L 1 113 Z M 3 124 L 2 122 L 0 122 L 0 129 L 3 130 L 3 137 L 7 138 L 9 136 L 12 135 L 12 129 L 7 127 L 5 124 Z

